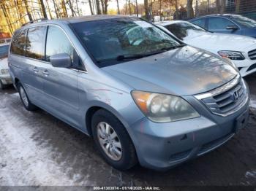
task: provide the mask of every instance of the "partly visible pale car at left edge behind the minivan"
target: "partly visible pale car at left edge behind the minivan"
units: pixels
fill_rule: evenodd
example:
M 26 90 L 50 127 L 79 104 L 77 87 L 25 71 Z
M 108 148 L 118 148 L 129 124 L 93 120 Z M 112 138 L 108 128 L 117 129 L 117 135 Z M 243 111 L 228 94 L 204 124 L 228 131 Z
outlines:
M 7 62 L 9 46 L 10 44 L 0 44 L 0 89 L 12 84 Z

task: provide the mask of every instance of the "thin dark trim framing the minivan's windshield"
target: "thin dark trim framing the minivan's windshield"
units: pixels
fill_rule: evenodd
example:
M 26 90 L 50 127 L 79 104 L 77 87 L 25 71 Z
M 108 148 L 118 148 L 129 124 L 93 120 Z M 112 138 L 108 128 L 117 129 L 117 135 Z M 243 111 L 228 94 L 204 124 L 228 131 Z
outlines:
M 118 17 L 119 18 L 119 17 Z M 155 25 L 154 23 L 151 23 L 151 22 L 148 22 L 148 20 L 145 20 L 141 17 L 120 17 L 120 18 L 137 18 L 138 20 L 143 20 L 145 21 L 146 23 L 149 23 L 151 24 L 152 26 L 158 28 L 159 30 L 163 31 L 165 34 L 167 34 L 168 36 L 172 37 L 173 39 L 175 39 L 180 45 L 184 45 L 186 46 L 187 44 L 182 42 L 180 39 L 178 39 L 176 36 L 174 35 L 171 35 L 169 33 L 167 33 L 167 31 L 164 31 L 162 30 L 162 28 L 160 28 L 159 26 Z M 115 20 L 116 18 L 106 18 L 106 19 L 102 19 L 102 20 Z M 93 21 L 96 21 L 96 20 L 92 20 Z M 90 21 L 83 21 L 83 22 L 79 22 L 79 23 L 86 23 L 86 22 L 90 22 Z M 77 31 L 75 31 L 75 28 L 73 27 L 73 25 L 76 24 L 76 23 L 69 23 L 68 26 L 69 28 L 72 30 L 73 34 L 75 34 L 75 36 L 77 37 L 78 41 L 80 42 L 80 44 L 82 45 L 83 49 L 86 50 L 86 53 L 87 55 L 89 55 L 89 58 L 91 58 L 91 61 L 94 63 L 95 66 L 97 66 L 99 69 L 103 68 L 103 67 L 100 67 L 99 66 L 99 61 L 97 61 L 96 58 L 94 58 L 94 55 L 91 54 L 91 52 L 89 51 L 88 47 L 86 47 L 86 44 L 83 43 L 83 40 L 80 38 L 80 36 L 78 35 Z M 166 51 L 163 51 L 163 52 L 166 52 Z M 160 54 L 162 52 L 157 52 L 157 54 Z M 157 54 L 154 54 L 154 55 L 157 55 Z M 151 56 L 151 55 L 148 55 L 148 56 Z M 134 60 L 138 60 L 138 59 L 142 59 L 142 58 L 137 58 L 137 59 L 134 59 Z M 127 63 L 129 61 L 121 61 L 119 63 Z M 116 65 L 116 64 L 119 64 L 119 63 L 113 63 L 109 66 L 113 66 L 113 65 Z M 107 67 L 107 66 L 106 66 Z

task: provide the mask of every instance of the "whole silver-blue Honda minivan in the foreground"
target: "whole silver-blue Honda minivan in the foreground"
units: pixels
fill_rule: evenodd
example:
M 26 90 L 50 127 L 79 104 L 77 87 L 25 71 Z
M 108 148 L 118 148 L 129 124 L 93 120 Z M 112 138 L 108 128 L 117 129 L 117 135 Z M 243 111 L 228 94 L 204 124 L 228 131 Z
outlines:
M 137 161 L 166 170 L 210 152 L 249 115 L 244 79 L 225 59 L 138 17 L 31 23 L 15 31 L 9 59 L 27 110 L 93 136 L 121 170 Z

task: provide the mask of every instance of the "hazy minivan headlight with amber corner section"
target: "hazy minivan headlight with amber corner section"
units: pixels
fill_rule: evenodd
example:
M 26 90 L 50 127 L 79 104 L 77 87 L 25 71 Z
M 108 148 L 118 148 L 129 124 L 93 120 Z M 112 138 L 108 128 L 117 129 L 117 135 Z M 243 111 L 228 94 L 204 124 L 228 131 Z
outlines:
M 187 120 L 200 115 L 183 98 L 134 90 L 132 98 L 143 114 L 154 122 Z

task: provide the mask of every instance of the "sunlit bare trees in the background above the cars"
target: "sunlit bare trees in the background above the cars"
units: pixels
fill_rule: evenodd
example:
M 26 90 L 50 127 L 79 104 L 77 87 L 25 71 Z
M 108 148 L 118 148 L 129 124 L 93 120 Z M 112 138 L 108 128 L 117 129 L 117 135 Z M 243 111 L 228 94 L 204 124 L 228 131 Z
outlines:
M 109 9 L 110 2 L 116 9 Z M 81 15 L 122 14 L 147 20 L 184 19 L 210 13 L 244 11 L 255 7 L 255 0 L 1 0 L 0 32 L 13 34 L 24 23 L 39 18 L 76 17 Z M 122 6 L 120 6 L 122 5 Z M 256 9 L 256 7 L 254 8 Z

